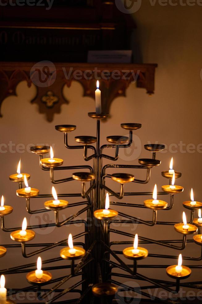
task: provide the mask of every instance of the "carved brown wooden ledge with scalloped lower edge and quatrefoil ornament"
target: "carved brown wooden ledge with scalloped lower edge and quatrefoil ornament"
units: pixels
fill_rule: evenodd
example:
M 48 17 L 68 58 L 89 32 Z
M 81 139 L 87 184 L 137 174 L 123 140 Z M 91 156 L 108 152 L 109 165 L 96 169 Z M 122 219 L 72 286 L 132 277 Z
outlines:
M 96 81 L 99 80 L 102 94 L 102 110 L 110 112 L 112 101 L 125 96 L 131 83 L 145 88 L 147 94 L 154 93 L 154 76 L 157 64 L 92 64 L 0 62 L 0 116 L 4 99 L 16 95 L 19 82 L 33 83 L 37 94 L 32 103 L 37 103 L 39 113 L 45 113 L 49 122 L 55 113 L 61 112 L 61 105 L 68 103 L 62 94 L 63 87 L 78 81 L 84 89 L 83 96 L 95 98 Z

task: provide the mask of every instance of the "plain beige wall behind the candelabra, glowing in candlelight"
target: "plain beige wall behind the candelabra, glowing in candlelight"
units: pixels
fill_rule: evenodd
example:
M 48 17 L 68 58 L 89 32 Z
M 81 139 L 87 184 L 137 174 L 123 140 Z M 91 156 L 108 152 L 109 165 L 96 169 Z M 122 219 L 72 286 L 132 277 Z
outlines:
M 201 66 L 201 10 L 199 6 L 165 6 L 156 4 L 154 7 L 149 1 L 142 3 L 141 8 L 134 14 L 137 22 L 137 30 L 133 34 L 133 39 L 140 45 L 143 62 L 158 63 L 155 82 L 155 94 L 151 98 L 146 95 L 144 89 L 137 89 L 134 84 L 127 90 L 126 98 L 120 97 L 113 101 L 111 106 L 111 119 L 107 123 L 101 124 L 101 143 L 106 143 L 107 135 L 126 135 L 120 128 L 120 123 L 138 122 L 142 123 L 142 128 L 134 134 L 136 143 L 141 143 L 140 155 L 130 154 L 127 158 L 127 151 L 121 153 L 117 163 L 137 164 L 138 158 L 149 157 L 149 152 L 144 150 L 144 144 L 148 141 L 167 144 L 179 144 L 180 141 L 185 144 L 186 149 L 193 144 L 197 147 L 201 143 L 201 93 L 202 80 L 200 78 Z M 137 36 L 136 36 L 137 35 Z M 136 38 L 137 37 L 137 38 Z M 8 145 L 12 141 L 16 145 L 19 143 L 27 146 L 33 144 L 55 144 L 54 153 L 56 157 L 64 159 L 64 165 L 84 164 L 81 150 L 71 151 L 65 149 L 63 145 L 63 136 L 54 128 L 56 124 L 76 124 L 77 129 L 70 134 L 70 143 L 74 144 L 76 135 L 96 135 L 96 123 L 88 118 L 87 112 L 93 111 L 94 101 L 88 97 L 82 97 L 82 87 L 78 83 L 73 83 L 70 88 L 65 88 L 65 94 L 68 97 L 69 105 L 62 106 L 62 113 L 56 114 L 52 123 L 47 123 L 44 115 L 39 114 L 37 106 L 30 103 L 35 95 L 35 88 L 27 88 L 25 83 L 20 83 L 17 88 L 17 97 L 7 98 L 2 104 L 3 118 L 0 119 L 1 142 Z M 200 146 L 201 148 L 201 146 Z M 140 151 L 140 144 L 138 144 Z M 158 220 L 162 221 L 181 221 L 184 211 L 182 202 L 188 200 L 191 187 L 193 187 L 195 199 L 201 200 L 201 153 L 202 149 L 193 153 L 159 153 L 157 159 L 162 161 L 158 168 L 153 168 L 151 179 L 147 185 L 131 184 L 126 185 L 125 190 L 133 191 L 152 191 L 154 184 L 157 183 L 158 190 L 166 184 L 166 180 L 161 176 L 161 171 L 167 170 L 170 158 L 174 158 L 174 169 L 182 172 L 182 177 L 177 184 L 184 187 L 184 192 L 175 196 L 174 208 L 170 211 L 158 212 Z M 106 152 L 106 151 L 105 151 Z M 109 152 L 112 153 L 112 152 Z M 21 226 L 23 217 L 26 216 L 29 223 L 34 225 L 39 223 L 39 218 L 35 215 L 27 215 L 25 201 L 16 197 L 16 185 L 8 179 L 10 174 L 16 172 L 17 163 L 21 157 L 22 172 L 31 174 L 30 186 L 40 189 L 40 193 L 48 193 L 51 189 L 51 182 L 47 172 L 42 172 L 38 166 L 38 157 L 30 153 L 1 153 L 1 185 L 0 194 L 5 196 L 5 204 L 14 207 L 14 212 L 5 218 L 6 227 Z M 137 159 L 136 159 L 137 157 Z M 110 171 L 109 171 L 110 172 Z M 144 178 L 143 172 L 138 170 L 127 170 L 135 175 L 136 178 Z M 72 172 L 59 172 L 56 177 L 61 178 L 70 176 Z M 118 190 L 114 182 L 108 181 L 108 185 Z M 68 184 L 56 186 L 60 193 L 80 191 L 80 184 L 72 181 Z M 164 197 L 169 200 L 169 197 Z M 123 202 L 143 203 L 142 197 L 128 198 L 124 197 Z M 80 199 L 79 199 L 80 200 Z M 69 199 L 69 202 L 79 201 L 78 199 Z M 44 200 L 33 199 L 32 209 L 43 207 Z M 117 210 L 121 210 L 119 207 Z M 64 214 L 69 216 L 73 210 L 67 209 Z M 190 212 L 186 211 L 187 219 L 190 218 Z M 152 212 L 150 210 L 140 209 L 124 210 L 141 217 L 141 219 L 151 220 Z M 48 218 L 39 215 L 42 222 L 53 221 L 53 214 L 48 212 Z M 197 217 L 197 214 L 196 214 Z M 172 226 L 147 227 L 140 225 L 134 230 L 134 227 L 121 228 L 138 233 L 141 236 L 154 239 L 181 239 L 181 235 L 174 231 Z M 65 239 L 67 235 L 81 231 L 82 228 L 61 227 L 47 230 L 36 230 L 34 243 L 54 242 Z M 192 236 L 190 236 L 192 238 Z M 112 235 L 111 239 L 121 239 L 120 236 Z M 125 237 L 122 239 L 126 239 Z M 0 232 L 1 244 L 14 244 L 10 239 L 9 233 Z M 167 250 L 160 246 L 145 245 L 151 253 L 170 253 L 178 255 L 178 251 Z M 27 250 L 30 251 L 29 249 Z M 200 255 L 199 246 L 187 245 L 182 252 L 183 256 Z M 48 259 L 59 256 L 59 248 L 53 249 L 41 254 L 42 259 Z M 8 248 L 7 254 L 1 259 L 1 268 L 16 266 L 29 262 L 35 262 L 36 256 L 24 259 L 20 249 Z M 162 260 L 148 258 L 142 263 L 167 263 L 171 265 L 176 263 L 174 260 Z M 58 265 L 65 265 L 65 262 Z M 191 262 L 185 262 L 191 264 Z M 151 277 L 166 279 L 165 270 L 153 271 L 141 269 L 141 273 L 149 274 Z M 61 271 L 58 275 L 65 275 L 66 271 Z M 199 270 L 193 270 L 190 280 L 196 280 L 200 274 Z M 56 276 L 56 273 L 54 273 Z M 20 277 L 20 280 L 19 280 Z M 200 276 L 198 276 L 200 277 Z M 6 286 L 22 287 L 27 286 L 25 274 L 6 276 Z M 15 283 L 14 283 L 15 282 Z

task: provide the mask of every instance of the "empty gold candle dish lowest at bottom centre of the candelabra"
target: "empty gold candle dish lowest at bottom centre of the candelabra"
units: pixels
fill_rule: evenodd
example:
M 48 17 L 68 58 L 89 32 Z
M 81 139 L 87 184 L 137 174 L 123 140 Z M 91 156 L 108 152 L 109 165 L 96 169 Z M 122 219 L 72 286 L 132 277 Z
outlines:
M 92 286 L 92 293 L 95 297 L 114 296 L 117 286 L 112 283 L 97 283 Z

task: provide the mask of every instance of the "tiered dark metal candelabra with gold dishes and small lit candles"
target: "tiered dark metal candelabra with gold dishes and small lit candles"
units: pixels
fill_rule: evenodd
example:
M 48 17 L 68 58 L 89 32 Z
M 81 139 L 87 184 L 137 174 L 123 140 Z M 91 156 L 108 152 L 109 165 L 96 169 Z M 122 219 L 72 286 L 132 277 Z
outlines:
M 74 125 L 57 125 L 55 126 L 56 130 L 64 134 L 64 144 L 65 147 L 69 150 L 74 149 L 83 149 L 83 157 L 88 162 L 92 162 L 90 165 L 81 165 L 81 166 L 62 166 L 63 160 L 59 158 L 54 158 L 53 150 L 48 146 L 33 146 L 31 147 L 31 152 L 33 154 L 39 155 L 40 168 L 45 171 L 50 172 L 50 180 L 53 184 L 59 184 L 64 182 L 69 182 L 76 180 L 81 183 L 81 193 L 65 193 L 58 194 L 53 187 L 53 198 L 44 203 L 45 208 L 39 210 L 32 210 L 30 207 L 30 201 L 32 198 L 51 198 L 52 194 L 39 194 L 39 190 L 31 188 L 28 186 L 28 180 L 30 175 L 27 173 L 20 173 L 20 163 L 17 170 L 17 174 L 12 174 L 10 180 L 19 185 L 19 189 L 16 190 L 16 194 L 26 200 L 26 210 L 29 214 L 36 214 L 42 212 L 54 212 L 55 223 L 49 223 L 48 226 L 57 226 L 63 225 L 74 225 L 77 223 L 82 223 L 83 231 L 73 237 L 69 235 L 68 240 L 60 240 L 57 243 L 53 244 L 38 244 L 40 249 L 33 251 L 31 253 L 26 253 L 27 242 L 35 238 L 35 233 L 33 229 L 41 228 L 42 226 L 27 226 L 26 218 L 23 221 L 22 229 L 18 228 L 6 228 L 4 224 L 4 217 L 9 215 L 13 208 L 10 206 L 4 206 L 3 198 L 0 208 L 0 220 L 1 228 L 5 232 L 11 233 L 11 239 L 15 242 L 18 242 L 15 247 L 22 248 L 22 255 L 25 258 L 29 258 L 35 255 L 39 255 L 41 252 L 46 250 L 51 250 L 55 247 L 61 247 L 59 251 L 59 257 L 53 258 L 51 260 L 42 261 L 43 269 L 41 270 L 41 260 L 38 258 L 37 270 L 35 270 L 35 264 L 26 264 L 22 266 L 16 266 L 12 268 L 6 268 L 1 270 L 1 274 L 8 275 L 12 273 L 27 272 L 26 279 L 31 284 L 31 287 L 21 288 L 20 291 L 28 292 L 30 290 L 35 291 L 38 299 L 41 301 L 46 301 L 46 303 L 52 303 L 60 299 L 62 296 L 69 292 L 80 293 L 80 297 L 67 300 L 66 302 L 74 303 L 126 303 L 129 301 L 127 296 L 122 297 L 121 291 L 124 289 L 131 290 L 133 293 L 139 294 L 144 298 L 150 298 L 150 294 L 146 292 L 146 289 L 161 288 L 169 293 L 177 293 L 179 287 L 183 286 L 186 288 L 198 288 L 200 289 L 199 284 L 201 282 L 186 282 L 183 283 L 183 279 L 188 278 L 191 275 L 191 268 L 200 268 L 200 266 L 182 266 L 181 255 L 179 256 L 178 265 L 153 265 L 153 264 L 141 264 L 138 265 L 138 261 L 141 259 L 146 259 L 147 257 L 154 258 L 165 258 L 165 259 L 174 259 L 177 260 L 178 256 L 168 255 L 168 254 L 151 254 L 146 248 L 138 247 L 138 238 L 139 243 L 144 245 L 147 244 L 157 244 L 166 248 L 172 248 L 176 250 L 183 250 L 186 246 L 186 243 L 195 243 L 198 246 L 202 246 L 202 235 L 201 226 L 202 219 L 199 214 L 199 219 L 194 218 L 195 210 L 199 210 L 202 207 L 202 203 L 196 202 L 193 199 L 193 193 L 191 196 L 191 201 L 183 202 L 183 207 L 191 211 L 190 222 L 186 222 L 185 214 L 183 213 L 183 223 L 175 223 L 169 221 L 157 221 L 157 212 L 163 211 L 166 212 L 172 209 L 174 205 L 174 196 L 183 191 L 182 186 L 175 185 L 175 178 L 181 177 L 180 172 L 175 172 L 172 169 L 172 163 L 170 165 L 169 171 L 163 171 L 162 176 L 165 177 L 168 182 L 168 185 L 162 186 L 162 192 L 157 192 L 156 186 L 154 187 L 154 192 L 124 192 L 124 184 L 126 183 L 139 183 L 146 184 L 150 178 L 150 171 L 152 168 L 160 165 L 160 160 L 156 159 L 156 153 L 165 148 L 161 144 L 149 144 L 145 145 L 144 148 L 151 155 L 152 158 L 139 159 L 138 165 L 121 165 L 118 166 L 110 163 L 103 166 L 103 159 L 108 159 L 110 161 L 116 161 L 119 157 L 119 150 L 123 148 L 128 148 L 132 145 L 133 141 L 133 132 L 141 128 L 140 123 L 122 123 L 121 127 L 124 130 L 129 132 L 129 136 L 107 136 L 108 144 L 100 146 L 100 120 L 107 118 L 107 113 L 88 113 L 88 116 L 94 119 L 97 122 L 97 136 L 76 136 L 75 141 L 78 145 L 69 145 L 68 136 L 72 134 L 76 129 Z M 96 147 L 93 145 L 96 144 Z M 115 156 L 109 156 L 103 154 L 104 150 L 113 148 L 115 150 Z M 44 158 L 45 154 L 50 153 L 50 158 Z M 107 169 L 114 168 L 119 171 L 120 168 L 129 168 L 129 169 L 141 169 L 145 171 L 145 180 L 136 179 L 132 174 L 128 173 L 107 173 Z M 54 172 L 58 170 L 75 170 L 71 177 L 55 180 Z M 120 184 L 120 192 L 115 192 L 106 186 L 106 181 L 108 178 L 111 178 L 113 181 Z M 25 182 L 25 188 L 23 188 L 23 182 Z M 89 188 L 86 190 L 86 183 L 89 182 Z M 109 202 L 109 197 L 116 198 L 115 200 L 120 200 L 126 196 L 148 196 L 149 199 L 144 201 L 144 204 L 137 203 L 122 203 L 117 201 Z M 158 195 L 164 195 L 164 197 L 170 200 L 170 204 L 166 203 L 163 200 L 157 199 Z M 150 197 L 153 195 L 153 199 Z M 81 202 L 77 203 L 68 203 L 64 199 L 66 197 L 82 197 Z M 106 200 L 105 200 L 106 197 Z M 135 208 L 149 208 L 152 211 L 152 219 L 150 221 L 145 221 L 141 218 L 134 217 L 133 215 L 117 212 L 109 208 L 109 204 L 116 209 L 116 206 L 122 206 L 127 209 L 127 207 Z M 75 206 L 82 206 L 80 211 L 71 215 L 63 221 L 59 221 L 60 211 L 64 208 L 71 208 Z M 79 215 L 86 212 L 86 220 L 77 219 Z M 121 219 L 116 219 L 118 216 Z M 155 240 L 143 236 L 133 235 L 131 233 L 126 233 L 121 230 L 112 229 L 112 223 L 128 223 L 130 225 L 137 224 L 139 225 L 170 225 L 173 226 L 175 231 L 182 235 L 182 239 L 175 240 Z M 44 225 L 47 227 L 47 225 Z M 194 235 L 193 239 L 187 240 L 187 235 L 194 234 L 198 231 L 199 234 Z M 110 233 L 115 233 L 121 236 L 127 236 L 131 238 L 131 241 L 112 241 L 110 240 Z M 79 239 L 81 237 L 85 238 L 85 242 L 74 242 L 73 240 Z M 133 242 L 134 239 L 134 242 Z M 68 247 L 67 246 L 68 241 Z M 21 243 L 21 244 L 19 244 Z M 126 247 L 127 245 L 133 244 L 132 247 Z M 176 245 L 178 244 L 178 245 Z M 36 247 L 37 244 L 31 243 L 29 247 Z M 76 245 L 76 246 L 75 246 Z M 124 245 L 124 250 L 114 250 L 115 245 Z M 6 247 L 12 247 L 12 245 L 5 245 L 0 247 L 0 256 L 3 257 L 6 254 Z M 202 247 L 201 247 L 202 248 Z M 112 259 L 111 259 L 112 257 Z M 126 264 L 123 261 L 123 257 L 128 260 L 131 260 L 132 264 Z M 57 266 L 57 262 L 61 260 L 69 260 L 68 265 L 66 266 Z M 75 262 L 80 260 L 77 264 Z M 200 257 L 184 257 L 183 260 L 186 261 L 200 261 L 202 260 L 202 254 Z M 46 267 L 48 263 L 55 263 L 56 266 Z M 130 261 L 129 261 L 130 262 Z M 168 267 L 167 267 L 168 266 Z M 33 268 L 35 267 L 35 268 Z M 141 274 L 141 268 L 166 268 L 166 273 L 170 276 L 172 281 L 153 279 L 146 277 Z M 66 268 L 68 273 L 66 276 L 55 278 L 53 274 L 49 271 Z M 119 269 L 120 272 L 114 272 L 114 269 Z M 139 270 L 138 270 L 139 268 Z M 49 270 L 49 271 L 47 271 Z M 78 277 L 78 282 L 72 286 L 68 285 L 68 280 L 72 277 Z M 117 279 L 112 279 L 117 278 Z M 141 288 L 134 288 L 127 286 L 126 284 L 121 284 L 118 281 L 118 278 L 127 278 L 131 280 L 145 281 L 149 285 L 143 286 Z M 51 285 L 51 288 L 48 288 L 48 285 Z M 64 289 L 60 289 L 64 288 Z M 78 289 L 78 287 L 80 289 Z M 18 293 L 19 289 L 7 290 L 7 300 L 6 300 L 6 291 L 4 288 L 4 277 L 1 279 L 1 288 L 0 288 L 0 297 L 3 303 L 11 303 L 9 300 L 10 294 Z M 54 296 L 51 297 L 51 295 Z M 158 296 L 153 296 L 153 301 L 161 302 L 161 298 Z M 61 303 L 64 303 L 62 301 Z M 170 303 L 169 301 L 163 300 L 162 302 Z M 178 300 L 175 301 L 178 303 Z

